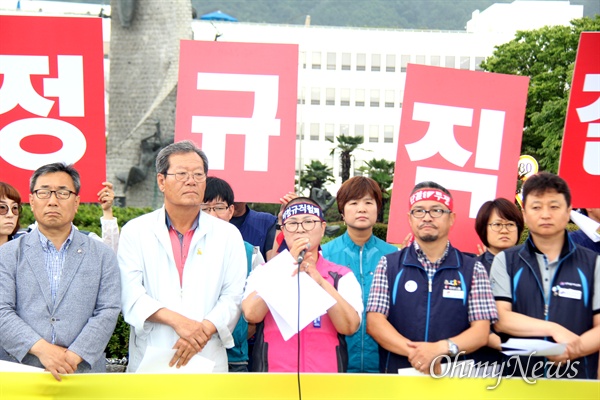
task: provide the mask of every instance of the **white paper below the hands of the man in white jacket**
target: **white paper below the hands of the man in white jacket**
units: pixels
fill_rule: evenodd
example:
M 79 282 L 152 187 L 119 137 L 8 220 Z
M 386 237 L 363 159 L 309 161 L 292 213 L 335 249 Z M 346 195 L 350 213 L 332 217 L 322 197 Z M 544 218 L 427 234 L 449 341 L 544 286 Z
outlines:
M 205 374 L 213 371 L 215 362 L 196 354 L 181 368 L 169 367 L 175 355 L 175 349 L 164 349 L 155 346 L 146 347 L 144 358 L 136 373 L 138 374 Z

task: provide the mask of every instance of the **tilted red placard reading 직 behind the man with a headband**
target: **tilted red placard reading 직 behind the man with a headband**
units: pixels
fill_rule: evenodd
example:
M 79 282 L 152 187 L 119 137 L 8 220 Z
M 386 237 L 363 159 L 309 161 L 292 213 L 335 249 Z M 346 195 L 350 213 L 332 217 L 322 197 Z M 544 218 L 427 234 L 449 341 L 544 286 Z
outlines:
M 480 206 L 514 199 L 529 78 L 409 64 L 388 242 L 407 233 L 415 184 L 434 181 L 454 200 L 450 241 L 476 252 Z

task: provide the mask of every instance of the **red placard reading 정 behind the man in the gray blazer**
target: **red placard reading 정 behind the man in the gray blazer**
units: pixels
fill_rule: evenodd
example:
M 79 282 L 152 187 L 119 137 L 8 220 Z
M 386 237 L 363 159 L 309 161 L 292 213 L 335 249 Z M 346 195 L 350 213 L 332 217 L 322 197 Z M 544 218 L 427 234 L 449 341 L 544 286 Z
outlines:
M 106 177 L 100 18 L 0 16 L 0 180 L 27 202 L 44 164 L 75 164 L 81 201 Z

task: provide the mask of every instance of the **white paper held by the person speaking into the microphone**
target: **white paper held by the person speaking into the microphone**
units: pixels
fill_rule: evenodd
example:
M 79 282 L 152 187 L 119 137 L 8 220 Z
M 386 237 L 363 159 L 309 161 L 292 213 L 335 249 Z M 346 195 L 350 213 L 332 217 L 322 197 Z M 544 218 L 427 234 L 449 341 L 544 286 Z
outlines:
M 292 276 L 294 258 L 285 250 L 254 271 L 256 292 L 267 303 L 284 340 L 298 333 L 298 279 L 300 279 L 300 330 L 325 314 L 335 299 L 306 272 Z

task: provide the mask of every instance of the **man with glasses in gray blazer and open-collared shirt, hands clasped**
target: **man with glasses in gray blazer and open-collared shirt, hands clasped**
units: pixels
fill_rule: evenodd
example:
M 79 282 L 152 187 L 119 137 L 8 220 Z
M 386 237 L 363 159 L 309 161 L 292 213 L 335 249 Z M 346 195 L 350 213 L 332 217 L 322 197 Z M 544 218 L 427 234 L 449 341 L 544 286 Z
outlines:
M 72 166 L 40 167 L 29 195 L 37 229 L 0 247 L 0 347 L 59 381 L 106 372 L 120 309 L 116 255 L 73 225 L 80 187 Z

